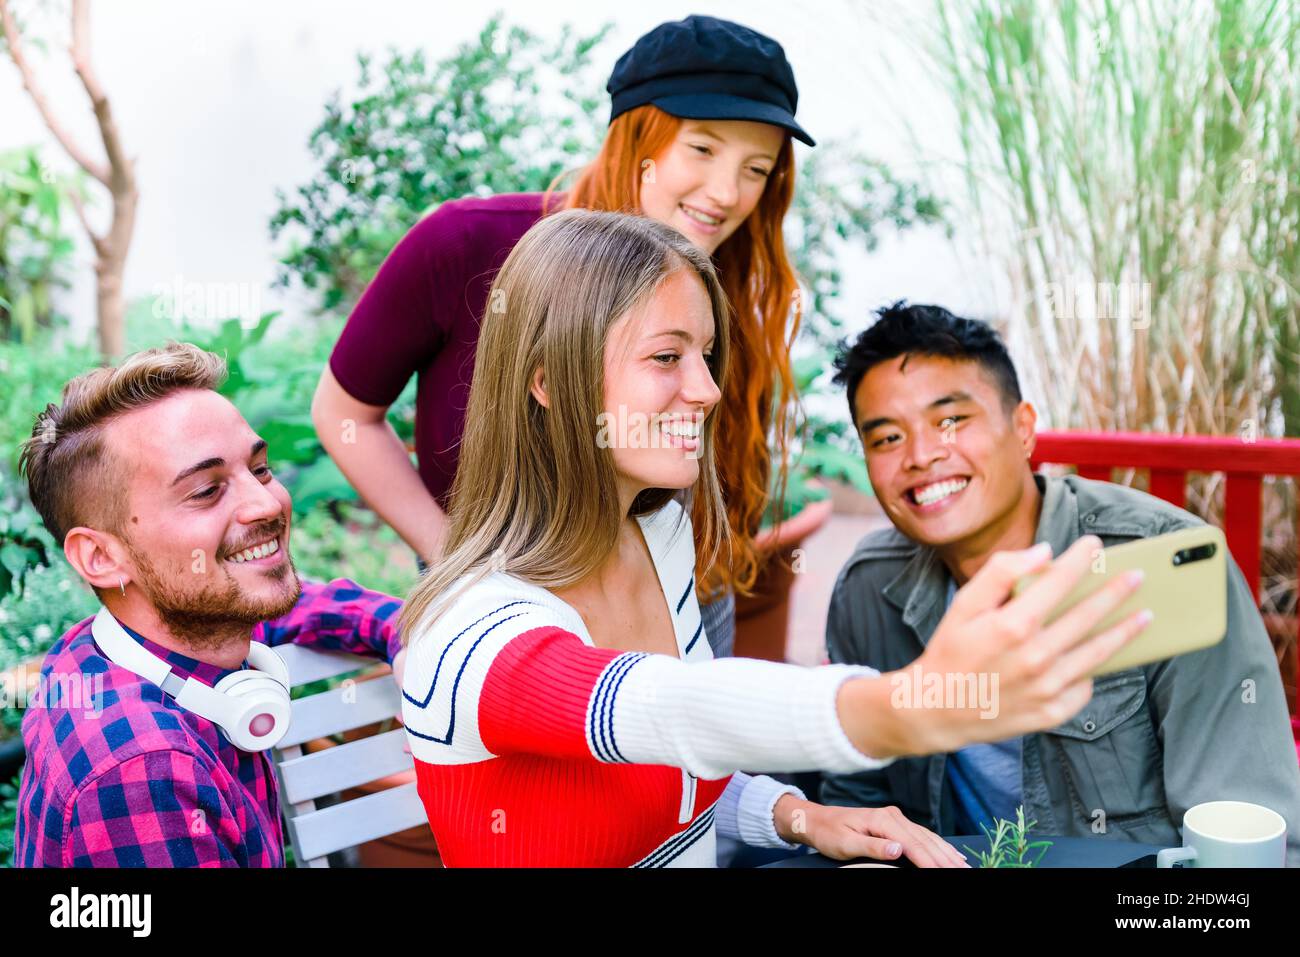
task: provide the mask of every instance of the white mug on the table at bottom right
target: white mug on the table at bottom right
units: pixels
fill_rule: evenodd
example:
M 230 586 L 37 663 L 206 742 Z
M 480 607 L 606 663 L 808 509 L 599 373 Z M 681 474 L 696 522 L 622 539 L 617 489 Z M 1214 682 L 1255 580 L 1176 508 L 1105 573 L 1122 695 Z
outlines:
M 1284 867 L 1287 822 L 1245 801 L 1208 801 L 1183 815 L 1183 846 L 1156 854 L 1157 867 Z

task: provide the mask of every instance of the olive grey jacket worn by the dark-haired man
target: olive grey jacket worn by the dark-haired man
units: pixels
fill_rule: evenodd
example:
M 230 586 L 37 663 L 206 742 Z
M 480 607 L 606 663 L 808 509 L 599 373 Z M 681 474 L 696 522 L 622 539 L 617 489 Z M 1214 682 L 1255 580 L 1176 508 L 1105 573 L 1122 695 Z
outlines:
M 1084 534 L 1105 545 L 1204 524 L 1157 498 L 1076 476 L 1035 476 L 1043 510 L 1035 542 L 1060 555 Z M 926 648 L 948 601 L 937 554 L 894 528 L 866 536 L 841 570 L 827 619 L 832 662 L 894 671 Z M 1261 804 L 1287 820 L 1287 865 L 1300 866 L 1300 766 L 1273 645 L 1235 562 L 1219 644 L 1096 680 L 1092 700 L 1052 731 L 1026 735 L 1027 819 L 1061 836 L 1182 844 L 1183 814 L 1204 801 Z M 879 771 L 824 775 L 826 804 L 898 805 L 952 835 L 946 754 Z

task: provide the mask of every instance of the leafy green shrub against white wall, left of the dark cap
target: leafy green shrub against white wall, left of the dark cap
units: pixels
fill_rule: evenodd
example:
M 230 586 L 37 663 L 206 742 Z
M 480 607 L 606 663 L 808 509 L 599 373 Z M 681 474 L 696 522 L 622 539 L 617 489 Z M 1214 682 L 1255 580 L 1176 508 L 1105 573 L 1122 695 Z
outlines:
M 436 64 L 420 49 L 359 55 L 356 92 L 335 94 L 311 134 L 317 172 L 291 198 L 277 191 L 277 282 L 346 312 L 438 203 L 545 190 L 594 155 L 604 105 L 590 55 L 607 31 L 543 39 L 495 16 Z

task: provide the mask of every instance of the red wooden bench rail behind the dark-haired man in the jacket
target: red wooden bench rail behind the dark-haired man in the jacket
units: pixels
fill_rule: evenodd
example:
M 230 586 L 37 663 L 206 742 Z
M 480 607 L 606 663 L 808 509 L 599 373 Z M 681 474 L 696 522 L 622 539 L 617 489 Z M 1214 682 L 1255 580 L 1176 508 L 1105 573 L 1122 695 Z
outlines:
M 1043 463 L 1074 465 L 1084 478 L 1110 481 L 1112 469 L 1140 468 L 1149 473 L 1149 492 L 1187 507 L 1188 472 L 1222 472 L 1226 480 L 1223 534 L 1232 558 L 1260 599 L 1261 490 L 1265 476 L 1300 480 L 1300 439 L 1231 436 L 1158 436 L 1144 432 L 1040 432 L 1032 456 Z M 1300 537 L 1297 537 L 1300 541 Z M 1292 636 L 1300 615 L 1290 618 Z M 1296 642 L 1280 657 L 1283 684 L 1292 714 L 1300 684 Z M 1300 740 L 1300 719 L 1292 720 Z

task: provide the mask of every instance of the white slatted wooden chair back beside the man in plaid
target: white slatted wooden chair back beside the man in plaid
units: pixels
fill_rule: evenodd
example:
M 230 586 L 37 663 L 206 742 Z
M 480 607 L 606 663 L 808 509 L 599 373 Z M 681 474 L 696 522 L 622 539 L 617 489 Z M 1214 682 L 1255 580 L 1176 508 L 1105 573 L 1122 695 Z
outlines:
M 373 667 L 374 658 L 278 645 L 294 688 Z M 403 750 L 406 731 L 396 728 L 359 741 L 303 753 L 303 744 L 402 713 L 402 696 L 391 677 L 348 681 L 343 687 L 298 698 L 289 733 L 272 752 L 280 779 L 280 801 L 289 844 L 299 867 L 328 867 L 326 854 L 376 840 L 428 820 L 415 781 L 328 807 L 316 802 L 390 774 L 413 767 Z

